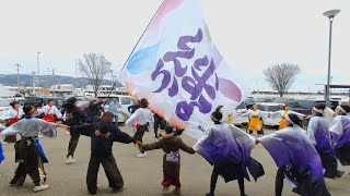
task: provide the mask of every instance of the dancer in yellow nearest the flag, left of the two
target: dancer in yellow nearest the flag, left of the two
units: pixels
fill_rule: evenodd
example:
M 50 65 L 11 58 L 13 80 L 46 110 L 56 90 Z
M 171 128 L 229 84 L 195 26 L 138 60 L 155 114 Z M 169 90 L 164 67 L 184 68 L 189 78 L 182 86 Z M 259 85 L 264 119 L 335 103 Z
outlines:
M 249 134 L 252 134 L 253 131 L 256 131 L 259 135 L 264 135 L 262 123 L 261 123 L 260 119 L 264 115 L 267 115 L 268 113 L 269 112 L 258 110 L 256 105 L 253 105 L 252 109 L 249 109 L 247 112 L 241 113 L 238 115 L 249 117 L 249 124 L 248 124 Z

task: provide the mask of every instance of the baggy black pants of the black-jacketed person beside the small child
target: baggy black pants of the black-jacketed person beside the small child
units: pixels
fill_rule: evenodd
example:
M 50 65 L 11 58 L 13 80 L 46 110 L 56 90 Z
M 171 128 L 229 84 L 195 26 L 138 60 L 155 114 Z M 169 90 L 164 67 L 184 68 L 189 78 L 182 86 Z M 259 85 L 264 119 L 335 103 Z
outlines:
M 105 170 L 106 176 L 109 182 L 109 187 L 114 191 L 118 191 L 124 186 L 124 180 L 120 171 L 117 167 L 116 160 L 113 156 L 106 158 L 91 157 L 88 168 L 86 184 L 90 194 L 96 194 L 97 192 L 97 173 L 102 163 Z

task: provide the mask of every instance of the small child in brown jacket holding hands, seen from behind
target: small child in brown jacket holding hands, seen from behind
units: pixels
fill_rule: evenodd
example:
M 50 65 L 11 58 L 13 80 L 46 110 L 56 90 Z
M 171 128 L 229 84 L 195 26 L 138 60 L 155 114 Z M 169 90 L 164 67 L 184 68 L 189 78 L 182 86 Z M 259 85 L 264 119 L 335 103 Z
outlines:
M 162 136 L 161 140 L 149 145 L 140 144 L 139 146 L 141 151 L 163 149 L 163 192 L 168 191 L 168 187 L 174 185 L 174 193 L 179 195 L 182 184 L 179 182 L 180 156 L 178 150 L 182 149 L 188 154 L 195 154 L 195 150 L 177 137 L 173 130 L 173 126 L 165 126 L 166 134 Z

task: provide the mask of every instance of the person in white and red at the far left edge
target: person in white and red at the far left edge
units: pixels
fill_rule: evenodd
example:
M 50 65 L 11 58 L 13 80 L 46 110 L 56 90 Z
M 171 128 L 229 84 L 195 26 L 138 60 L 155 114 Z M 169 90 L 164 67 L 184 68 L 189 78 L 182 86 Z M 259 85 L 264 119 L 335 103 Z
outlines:
M 18 101 L 12 101 L 10 103 L 11 108 L 9 108 L 1 117 L 0 119 L 3 121 L 8 121 L 8 126 L 11 126 L 12 124 L 16 123 L 24 115 L 22 108 L 20 107 Z M 3 144 L 7 143 L 15 143 L 16 142 L 16 135 L 8 135 L 3 139 Z

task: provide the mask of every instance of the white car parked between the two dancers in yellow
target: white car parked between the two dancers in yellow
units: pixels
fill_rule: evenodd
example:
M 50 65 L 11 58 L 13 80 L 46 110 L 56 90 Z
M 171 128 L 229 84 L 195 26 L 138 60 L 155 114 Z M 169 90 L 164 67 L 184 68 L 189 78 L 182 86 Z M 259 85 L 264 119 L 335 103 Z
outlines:
M 279 110 L 283 110 L 284 105 L 283 103 L 276 103 L 276 102 L 257 102 L 256 107 L 258 110 L 265 111 L 265 112 L 275 112 Z M 277 126 L 280 123 L 279 118 L 272 118 L 272 115 L 269 113 L 267 117 L 262 117 L 262 125 L 266 126 Z

